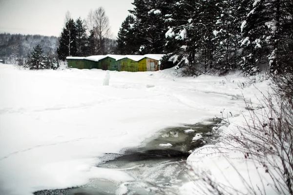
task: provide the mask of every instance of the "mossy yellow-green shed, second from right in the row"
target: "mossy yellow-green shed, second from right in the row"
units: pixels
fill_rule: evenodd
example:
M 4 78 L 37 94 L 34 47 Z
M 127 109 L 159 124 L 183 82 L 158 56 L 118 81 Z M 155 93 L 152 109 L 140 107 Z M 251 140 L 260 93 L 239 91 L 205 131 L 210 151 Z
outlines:
M 138 72 L 139 71 L 139 61 L 143 59 L 144 56 L 140 55 L 126 55 L 117 59 L 117 70 L 118 71 L 128 71 L 128 72 Z

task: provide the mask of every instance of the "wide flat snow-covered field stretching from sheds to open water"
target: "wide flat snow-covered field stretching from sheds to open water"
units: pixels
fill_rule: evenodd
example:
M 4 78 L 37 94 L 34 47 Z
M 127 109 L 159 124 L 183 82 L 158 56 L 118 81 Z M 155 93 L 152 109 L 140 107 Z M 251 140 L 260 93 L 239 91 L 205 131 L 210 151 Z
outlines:
M 0 64 L 1 195 L 31 195 L 95 177 L 131 180 L 95 167 L 98 157 L 139 146 L 168 126 L 220 117 L 223 109 L 237 116 L 245 111 L 242 93 L 258 103 L 258 89 L 267 89 L 263 82 L 242 90 L 246 79 L 239 73 L 186 78 L 174 69 L 111 71 L 110 85 L 103 86 L 105 73 Z

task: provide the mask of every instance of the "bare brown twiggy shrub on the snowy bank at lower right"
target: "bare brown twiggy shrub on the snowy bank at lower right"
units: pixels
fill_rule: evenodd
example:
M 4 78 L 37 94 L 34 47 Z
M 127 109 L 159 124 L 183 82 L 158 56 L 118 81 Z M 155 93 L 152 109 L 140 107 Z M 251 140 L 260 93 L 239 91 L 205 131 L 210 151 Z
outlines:
M 218 181 L 212 174 L 193 170 L 195 168 L 191 166 L 191 178 L 196 182 L 196 194 L 293 195 L 293 101 L 292 96 L 290 97 L 292 84 L 289 81 L 285 80 L 284 84 L 276 85 L 274 95 L 264 96 L 260 106 L 263 109 L 259 109 L 259 106 L 254 108 L 250 102 L 246 102 L 246 107 L 251 109 L 248 109 L 249 115 L 244 117 L 245 123 L 236 125 L 234 131 L 222 137 L 224 148 L 210 146 L 207 155 L 202 156 L 226 158 L 227 164 L 243 182 L 246 192 L 230 185 L 229 179 L 227 182 Z M 288 85 L 291 88 L 287 88 Z M 207 152 L 205 149 L 199 149 L 198 154 Z M 248 176 L 244 176 L 239 166 L 235 166 L 235 159 L 231 159 L 226 152 L 239 153 L 237 160 L 245 162 L 246 165 L 253 164 L 253 171 L 257 173 L 249 173 L 252 169 L 247 167 Z M 224 175 L 227 176 L 227 173 L 223 173 L 225 178 Z M 252 175 L 259 177 L 258 183 L 253 183 L 255 178 L 251 178 Z

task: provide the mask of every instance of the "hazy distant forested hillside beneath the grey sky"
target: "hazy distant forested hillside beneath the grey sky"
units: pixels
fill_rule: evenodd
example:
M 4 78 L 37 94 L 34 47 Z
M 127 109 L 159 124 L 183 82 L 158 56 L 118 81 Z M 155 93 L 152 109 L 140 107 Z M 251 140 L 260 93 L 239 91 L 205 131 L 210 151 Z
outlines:
M 5 63 L 23 61 L 38 43 L 41 44 L 44 54 L 56 53 L 58 38 L 42 35 L 0 34 L 0 59 Z

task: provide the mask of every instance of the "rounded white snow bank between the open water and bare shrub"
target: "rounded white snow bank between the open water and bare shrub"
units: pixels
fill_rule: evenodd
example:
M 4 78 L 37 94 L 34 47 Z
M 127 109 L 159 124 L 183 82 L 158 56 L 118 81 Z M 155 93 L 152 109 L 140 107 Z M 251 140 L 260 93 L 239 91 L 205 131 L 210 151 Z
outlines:
M 267 86 L 267 81 L 257 83 L 256 86 L 243 89 L 243 95 L 246 99 L 251 99 L 256 108 L 259 104 L 257 97 L 263 97 L 260 91 L 266 94 Z M 262 110 L 255 112 L 263 116 Z M 236 192 L 251 194 L 254 189 L 259 194 L 277 195 L 278 192 L 271 185 L 273 181 L 263 165 L 252 158 L 245 157 L 244 153 L 240 152 L 242 150 L 241 144 L 229 138 L 230 135 L 242 135 L 243 129 L 241 127 L 246 124 L 250 114 L 247 110 L 242 110 L 242 114 L 237 117 L 229 116 L 230 124 L 228 127 L 213 127 L 213 130 L 221 132 L 222 137 L 218 143 L 196 149 L 188 156 L 187 163 L 190 166 L 189 175 L 192 181 L 181 187 L 181 194 L 212 195 L 214 189 L 202 180 L 202 178 L 209 178 L 215 182 L 215 185 L 224 187 L 227 194 L 235 194 Z M 200 135 L 197 134 L 193 139 L 197 140 L 199 137 Z M 236 189 L 236 192 L 233 189 Z

